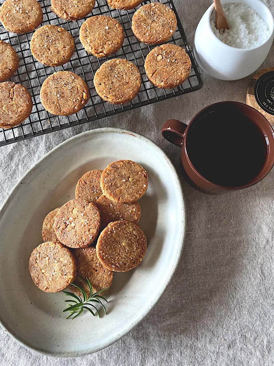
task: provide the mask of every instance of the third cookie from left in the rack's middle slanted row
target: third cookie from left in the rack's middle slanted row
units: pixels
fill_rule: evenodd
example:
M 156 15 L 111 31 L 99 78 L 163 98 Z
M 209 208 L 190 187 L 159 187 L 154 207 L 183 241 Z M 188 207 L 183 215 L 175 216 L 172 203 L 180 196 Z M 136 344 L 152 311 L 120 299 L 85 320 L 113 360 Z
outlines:
M 96 57 L 110 56 L 123 45 L 123 27 L 114 18 L 95 15 L 88 18 L 80 28 L 79 38 L 84 49 Z

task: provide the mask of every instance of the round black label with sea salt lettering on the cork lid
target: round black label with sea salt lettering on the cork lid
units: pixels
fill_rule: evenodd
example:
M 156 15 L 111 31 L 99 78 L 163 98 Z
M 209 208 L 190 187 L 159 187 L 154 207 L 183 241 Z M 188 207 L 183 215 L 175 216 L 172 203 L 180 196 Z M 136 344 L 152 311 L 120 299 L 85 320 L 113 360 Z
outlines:
M 257 80 L 254 95 L 259 106 L 274 115 L 274 71 L 266 72 Z

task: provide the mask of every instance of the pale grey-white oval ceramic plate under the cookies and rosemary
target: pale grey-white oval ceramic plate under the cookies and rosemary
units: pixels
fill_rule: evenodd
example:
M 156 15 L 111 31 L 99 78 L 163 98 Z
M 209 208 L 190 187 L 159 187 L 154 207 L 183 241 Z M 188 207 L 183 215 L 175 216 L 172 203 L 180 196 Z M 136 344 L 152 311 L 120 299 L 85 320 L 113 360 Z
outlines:
M 114 273 L 107 315 L 99 319 L 84 311 L 66 320 L 62 310 L 68 298 L 39 290 L 28 272 L 28 258 L 42 243 L 46 214 L 75 197 L 81 175 L 119 159 L 136 161 L 148 172 L 148 190 L 139 201 L 148 250 L 137 268 Z M 1 209 L 0 233 L 1 324 L 21 344 L 42 354 L 90 354 L 132 330 L 169 283 L 185 233 L 180 181 L 170 160 L 150 140 L 114 128 L 88 131 L 57 146 L 24 175 Z

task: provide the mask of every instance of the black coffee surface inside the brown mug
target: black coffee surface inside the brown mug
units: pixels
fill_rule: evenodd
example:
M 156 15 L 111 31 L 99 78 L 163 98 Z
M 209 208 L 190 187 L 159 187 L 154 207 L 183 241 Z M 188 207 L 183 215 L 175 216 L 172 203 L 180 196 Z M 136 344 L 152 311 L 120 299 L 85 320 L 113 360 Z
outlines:
M 216 108 L 191 124 L 186 149 L 204 178 L 224 187 L 241 187 L 263 169 L 268 145 L 250 117 Z

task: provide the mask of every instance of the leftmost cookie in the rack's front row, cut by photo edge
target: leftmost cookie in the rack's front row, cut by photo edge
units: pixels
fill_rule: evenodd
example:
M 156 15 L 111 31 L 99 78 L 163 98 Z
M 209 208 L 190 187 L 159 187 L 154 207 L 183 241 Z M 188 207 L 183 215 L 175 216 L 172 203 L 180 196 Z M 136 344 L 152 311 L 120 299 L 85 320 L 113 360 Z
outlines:
M 11 128 L 31 113 L 33 101 L 27 89 L 11 81 L 0 83 L 0 127 Z

